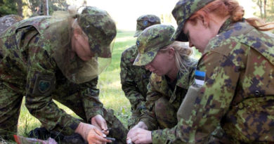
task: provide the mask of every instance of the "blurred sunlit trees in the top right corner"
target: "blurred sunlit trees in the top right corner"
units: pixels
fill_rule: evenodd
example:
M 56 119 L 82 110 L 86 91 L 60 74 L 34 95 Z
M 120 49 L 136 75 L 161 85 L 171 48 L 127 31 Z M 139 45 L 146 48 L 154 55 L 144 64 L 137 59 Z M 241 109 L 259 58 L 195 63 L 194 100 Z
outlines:
M 274 0 L 252 0 L 259 7 L 259 13 L 254 15 L 259 16 L 266 22 L 274 21 Z

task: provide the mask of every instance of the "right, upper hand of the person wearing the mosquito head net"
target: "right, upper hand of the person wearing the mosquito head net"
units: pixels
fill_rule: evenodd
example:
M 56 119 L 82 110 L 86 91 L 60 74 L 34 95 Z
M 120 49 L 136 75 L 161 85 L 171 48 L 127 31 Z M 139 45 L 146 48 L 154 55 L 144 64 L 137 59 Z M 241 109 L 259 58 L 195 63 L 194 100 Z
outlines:
M 107 122 L 105 122 L 105 119 L 100 114 L 91 118 L 91 124 L 103 131 L 105 135 L 108 135 L 109 131 L 107 131 Z

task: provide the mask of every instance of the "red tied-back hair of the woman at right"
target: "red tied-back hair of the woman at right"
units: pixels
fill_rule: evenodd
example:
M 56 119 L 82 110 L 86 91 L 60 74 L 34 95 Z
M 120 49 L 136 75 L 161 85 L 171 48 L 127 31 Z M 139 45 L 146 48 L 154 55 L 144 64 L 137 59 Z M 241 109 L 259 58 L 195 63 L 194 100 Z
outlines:
M 196 23 L 197 18 L 201 18 L 203 16 L 205 20 L 209 20 L 208 13 L 215 13 L 220 18 L 226 17 L 227 15 L 230 15 L 230 19 L 233 22 L 240 22 L 243 20 L 246 20 L 249 25 L 252 25 L 257 30 L 260 31 L 268 31 L 273 30 L 274 27 L 270 27 L 270 25 L 274 24 L 274 22 L 265 23 L 263 20 L 259 18 L 247 18 L 244 19 L 244 8 L 239 5 L 239 3 L 235 0 L 216 0 L 213 1 L 203 8 L 201 8 L 199 11 L 194 13 L 189 20 Z

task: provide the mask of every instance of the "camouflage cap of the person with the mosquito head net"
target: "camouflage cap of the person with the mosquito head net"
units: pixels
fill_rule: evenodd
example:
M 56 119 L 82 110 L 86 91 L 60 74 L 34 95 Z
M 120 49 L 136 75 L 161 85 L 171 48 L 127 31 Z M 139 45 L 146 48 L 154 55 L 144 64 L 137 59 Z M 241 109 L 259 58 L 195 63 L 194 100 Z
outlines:
M 110 15 L 99 8 L 86 6 L 79 15 L 78 23 L 89 37 L 89 46 L 94 56 L 110 58 L 110 44 L 117 34 L 115 22 Z

